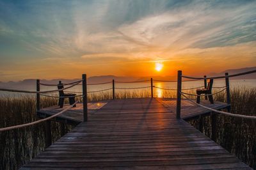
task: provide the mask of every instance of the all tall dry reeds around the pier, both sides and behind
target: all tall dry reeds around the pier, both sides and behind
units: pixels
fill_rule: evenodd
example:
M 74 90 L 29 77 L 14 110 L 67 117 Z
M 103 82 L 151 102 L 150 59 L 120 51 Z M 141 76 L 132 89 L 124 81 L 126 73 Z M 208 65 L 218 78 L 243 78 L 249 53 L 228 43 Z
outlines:
M 161 91 L 161 96 L 154 89 L 154 97 L 175 98 L 176 91 Z M 216 89 L 218 91 L 219 89 Z M 185 91 L 194 93 L 195 90 Z M 150 89 L 116 90 L 115 98 L 141 98 L 150 97 Z M 256 89 L 235 88 L 231 89 L 231 112 L 238 114 L 255 115 L 256 111 Z M 88 102 L 109 100 L 112 98 L 112 91 L 89 93 Z M 195 97 L 192 97 L 195 98 Z M 214 95 L 214 99 L 225 102 L 225 92 Z M 77 98 L 81 100 L 81 98 Z M 67 102 L 67 101 L 66 101 Z M 41 107 L 56 105 L 56 98 L 41 98 Z M 19 95 L 15 97 L 0 97 L 0 127 L 20 125 L 37 120 L 35 97 Z M 188 121 L 196 128 L 199 127 L 199 120 Z M 211 137 L 211 116 L 204 117 L 204 134 Z M 52 121 L 52 141 L 61 137 L 61 128 L 65 133 L 73 127 L 62 125 Z M 18 169 L 26 164 L 32 157 L 35 157 L 45 148 L 44 123 L 26 128 L 19 128 L 0 132 L 0 169 Z M 251 167 L 256 168 L 256 127 L 255 121 L 241 118 L 230 118 L 218 115 L 218 134 L 216 142 L 225 149 L 241 158 Z

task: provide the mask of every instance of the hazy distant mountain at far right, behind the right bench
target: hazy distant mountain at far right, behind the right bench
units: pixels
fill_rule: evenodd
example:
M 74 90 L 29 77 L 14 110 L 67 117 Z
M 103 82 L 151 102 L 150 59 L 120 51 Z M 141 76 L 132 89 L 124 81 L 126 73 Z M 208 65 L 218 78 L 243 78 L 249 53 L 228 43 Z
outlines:
M 225 75 L 225 73 L 228 73 L 229 75 L 236 74 L 236 73 L 242 73 L 242 72 L 249 72 L 252 70 L 256 70 L 256 66 L 253 67 L 248 67 L 248 68 L 238 68 L 238 69 L 230 69 L 230 70 L 225 70 L 220 73 L 209 73 L 207 75 L 208 77 L 215 77 L 215 76 L 221 76 Z M 230 79 L 256 79 L 256 73 L 250 73 L 247 75 L 241 75 L 237 77 L 231 77 Z

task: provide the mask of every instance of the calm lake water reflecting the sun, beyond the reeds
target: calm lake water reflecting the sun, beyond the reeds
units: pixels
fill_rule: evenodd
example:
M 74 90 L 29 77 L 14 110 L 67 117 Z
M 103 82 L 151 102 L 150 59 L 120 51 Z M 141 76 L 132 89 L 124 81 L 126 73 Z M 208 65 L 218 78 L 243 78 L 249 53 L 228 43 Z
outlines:
M 148 82 L 136 82 L 136 83 L 115 83 L 115 92 L 118 93 L 120 91 L 129 91 L 129 92 L 136 92 L 136 91 L 150 91 L 150 81 Z M 155 82 L 153 83 L 153 86 L 158 87 L 154 88 L 154 95 L 156 97 L 163 97 L 164 89 L 159 88 L 166 88 L 166 89 L 176 89 L 177 88 L 177 82 Z M 182 82 L 182 89 L 186 88 L 196 88 L 198 86 L 204 86 L 204 81 L 190 81 L 190 82 Z M 213 83 L 214 87 L 221 87 L 225 86 L 225 80 L 214 80 Z M 148 87 L 148 88 L 142 88 L 142 89 L 117 89 L 117 88 L 141 88 L 141 87 Z M 94 85 L 94 86 L 88 86 L 87 91 L 99 91 L 102 89 L 109 89 L 112 88 L 112 83 L 109 84 L 102 84 L 102 85 Z M 256 79 L 246 79 L 246 80 L 230 80 L 230 88 L 256 88 Z M 17 89 L 17 88 L 13 88 Z M 19 89 L 26 89 L 26 90 L 32 90 L 35 91 L 35 86 L 25 86 L 20 87 Z M 56 87 L 49 87 L 49 86 L 41 86 L 41 91 L 46 90 L 52 90 L 57 89 Z M 106 93 L 111 93 L 111 90 L 105 91 Z M 74 91 L 77 92 L 77 94 L 81 93 L 82 86 L 74 86 L 73 88 L 67 89 L 66 91 Z M 175 92 L 175 91 L 173 91 Z M 104 93 L 104 92 L 98 92 L 98 93 Z M 0 91 L 0 97 L 19 97 L 21 93 L 12 93 L 12 92 L 5 92 Z M 58 93 L 52 93 L 53 95 L 58 95 Z M 29 94 L 31 95 L 31 94 Z M 35 94 L 33 94 L 35 95 Z

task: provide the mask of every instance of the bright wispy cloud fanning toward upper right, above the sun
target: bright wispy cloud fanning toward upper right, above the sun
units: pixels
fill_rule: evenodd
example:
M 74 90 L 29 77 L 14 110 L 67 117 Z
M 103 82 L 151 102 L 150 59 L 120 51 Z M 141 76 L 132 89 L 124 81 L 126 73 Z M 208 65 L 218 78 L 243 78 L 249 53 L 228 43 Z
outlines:
M 118 31 L 136 42 L 172 51 L 255 41 L 255 38 L 250 38 L 256 33 L 252 29 L 255 26 L 246 23 L 252 19 L 251 12 L 255 5 L 247 4 L 237 7 L 236 10 L 209 10 L 207 4 L 196 4 L 196 9 L 194 7 L 186 6 L 148 16 L 132 24 L 124 24 Z

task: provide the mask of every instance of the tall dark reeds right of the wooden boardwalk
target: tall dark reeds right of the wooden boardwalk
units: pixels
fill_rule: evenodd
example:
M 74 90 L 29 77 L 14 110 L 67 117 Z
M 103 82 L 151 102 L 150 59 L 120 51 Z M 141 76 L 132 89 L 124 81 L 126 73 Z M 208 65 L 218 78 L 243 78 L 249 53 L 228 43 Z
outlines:
M 225 93 L 216 95 L 215 100 L 226 102 Z M 230 91 L 231 111 L 234 114 L 256 116 L 256 88 L 232 88 Z M 202 121 L 202 132 L 211 137 L 211 116 Z M 199 129 L 199 118 L 188 121 Z M 230 151 L 249 166 L 256 169 L 256 121 L 218 114 L 216 143 Z

